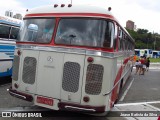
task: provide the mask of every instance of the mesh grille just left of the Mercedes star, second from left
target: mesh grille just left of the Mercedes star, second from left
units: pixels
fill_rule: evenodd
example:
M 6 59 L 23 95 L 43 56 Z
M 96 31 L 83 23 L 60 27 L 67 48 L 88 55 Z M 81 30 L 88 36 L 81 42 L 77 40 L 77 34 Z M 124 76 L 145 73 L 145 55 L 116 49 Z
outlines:
M 34 84 L 36 76 L 37 60 L 33 57 L 25 57 L 23 63 L 23 82 Z

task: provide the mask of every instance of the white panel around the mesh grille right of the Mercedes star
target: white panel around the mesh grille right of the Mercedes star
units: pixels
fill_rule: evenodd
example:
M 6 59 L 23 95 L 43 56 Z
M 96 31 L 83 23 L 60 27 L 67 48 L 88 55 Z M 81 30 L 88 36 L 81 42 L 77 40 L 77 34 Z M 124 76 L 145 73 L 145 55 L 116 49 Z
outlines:
M 61 100 L 80 103 L 85 55 L 64 56 Z

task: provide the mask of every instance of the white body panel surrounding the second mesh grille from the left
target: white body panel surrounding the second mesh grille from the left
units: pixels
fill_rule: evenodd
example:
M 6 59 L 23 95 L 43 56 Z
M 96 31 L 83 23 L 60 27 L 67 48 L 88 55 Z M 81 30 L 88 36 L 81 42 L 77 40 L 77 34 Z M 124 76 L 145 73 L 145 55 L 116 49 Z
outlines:
M 36 92 L 38 56 L 39 51 L 21 50 L 20 66 L 22 67 L 20 68 L 22 69 L 19 70 L 21 72 L 19 89 L 22 91 L 26 91 L 28 93 Z M 15 57 L 14 59 L 18 58 Z

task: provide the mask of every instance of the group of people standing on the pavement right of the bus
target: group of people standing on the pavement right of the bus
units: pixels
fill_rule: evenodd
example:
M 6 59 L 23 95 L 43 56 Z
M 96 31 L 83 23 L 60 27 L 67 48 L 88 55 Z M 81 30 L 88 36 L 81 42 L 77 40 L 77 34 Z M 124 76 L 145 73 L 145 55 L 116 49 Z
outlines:
M 149 70 L 150 66 L 149 57 L 148 58 L 146 58 L 145 56 L 140 57 L 139 60 L 136 60 L 135 66 L 136 66 L 135 74 L 139 73 L 139 75 L 144 75 L 145 71 Z

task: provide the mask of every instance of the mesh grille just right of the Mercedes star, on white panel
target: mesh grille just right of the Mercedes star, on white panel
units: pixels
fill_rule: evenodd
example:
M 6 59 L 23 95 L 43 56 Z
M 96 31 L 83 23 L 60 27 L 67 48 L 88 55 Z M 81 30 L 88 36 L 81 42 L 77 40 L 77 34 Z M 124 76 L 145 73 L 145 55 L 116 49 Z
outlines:
M 80 65 L 75 62 L 66 62 L 63 69 L 62 88 L 68 92 L 77 92 L 79 89 Z

